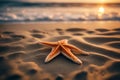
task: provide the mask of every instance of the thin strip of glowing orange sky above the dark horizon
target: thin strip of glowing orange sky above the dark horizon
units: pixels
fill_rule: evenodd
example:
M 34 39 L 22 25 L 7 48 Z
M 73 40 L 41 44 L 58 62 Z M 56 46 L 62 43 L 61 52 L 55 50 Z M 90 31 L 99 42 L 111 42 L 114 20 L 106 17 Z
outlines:
M 120 3 L 120 0 L 26 0 L 30 2 Z

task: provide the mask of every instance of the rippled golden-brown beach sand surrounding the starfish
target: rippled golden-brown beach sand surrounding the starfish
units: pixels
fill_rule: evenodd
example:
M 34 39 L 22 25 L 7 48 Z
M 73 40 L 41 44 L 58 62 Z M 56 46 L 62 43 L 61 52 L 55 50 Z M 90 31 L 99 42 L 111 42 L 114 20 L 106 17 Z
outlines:
M 89 52 L 62 54 L 45 63 L 51 47 L 40 41 L 67 39 Z M 0 25 L 0 80 L 120 80 L 120 23 L 22 23 Z

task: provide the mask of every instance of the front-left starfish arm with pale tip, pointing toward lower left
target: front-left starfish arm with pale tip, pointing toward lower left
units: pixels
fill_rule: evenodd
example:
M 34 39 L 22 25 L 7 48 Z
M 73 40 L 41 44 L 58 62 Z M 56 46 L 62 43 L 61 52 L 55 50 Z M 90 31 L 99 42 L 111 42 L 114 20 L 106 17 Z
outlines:
M 58 54 L 60 54 L 59 48 L 60 48 L 59 45 L 57 47 L 52 48 L 52 51 L 46 57 L 45 62 L 51 61 L 54 57 L 56 57 Z

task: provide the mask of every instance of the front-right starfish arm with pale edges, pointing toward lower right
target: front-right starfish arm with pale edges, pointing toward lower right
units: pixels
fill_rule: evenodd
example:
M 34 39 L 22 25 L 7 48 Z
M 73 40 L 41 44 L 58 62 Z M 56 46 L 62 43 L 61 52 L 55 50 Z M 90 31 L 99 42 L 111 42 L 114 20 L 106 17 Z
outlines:
M 63 45 L 61 45 L 61 47 L 63 49 L 62 53 L 64 56 L 66 56 L 70 60 L 74 61 L 75 63 L 82 64 L 82 61 L 79 58 L 77 58 L 75 55 L 73 55 L 73 53 L 70 51 L 69 48 L 64 47 Z

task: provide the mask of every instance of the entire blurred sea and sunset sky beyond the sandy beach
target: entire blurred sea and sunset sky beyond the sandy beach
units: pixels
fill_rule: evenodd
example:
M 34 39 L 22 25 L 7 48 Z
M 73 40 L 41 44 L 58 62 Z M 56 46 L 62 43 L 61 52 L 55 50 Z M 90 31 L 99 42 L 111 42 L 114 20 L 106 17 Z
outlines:
M 120 0 L 0 0 L 0 23 L 120 21 Z

